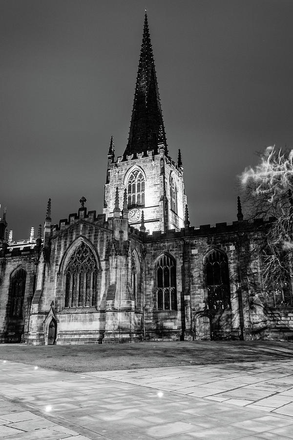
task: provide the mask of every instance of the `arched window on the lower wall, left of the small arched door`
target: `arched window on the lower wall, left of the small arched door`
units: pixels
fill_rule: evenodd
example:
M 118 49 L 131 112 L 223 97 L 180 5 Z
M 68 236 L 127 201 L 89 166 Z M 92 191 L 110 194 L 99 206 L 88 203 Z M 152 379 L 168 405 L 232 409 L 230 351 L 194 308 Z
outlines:
M 162 255 L 157 264 L 158 310 L 177 310 L 176 263 L 169 255 Z

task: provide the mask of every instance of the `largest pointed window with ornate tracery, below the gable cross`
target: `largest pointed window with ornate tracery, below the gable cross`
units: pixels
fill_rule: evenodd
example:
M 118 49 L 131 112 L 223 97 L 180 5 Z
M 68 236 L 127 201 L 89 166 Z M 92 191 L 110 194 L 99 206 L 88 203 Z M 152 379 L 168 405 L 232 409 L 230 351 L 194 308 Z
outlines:
M 81 242 L 65 268 L 65 307 L 97 305 L 98 266 L 93 251 Z

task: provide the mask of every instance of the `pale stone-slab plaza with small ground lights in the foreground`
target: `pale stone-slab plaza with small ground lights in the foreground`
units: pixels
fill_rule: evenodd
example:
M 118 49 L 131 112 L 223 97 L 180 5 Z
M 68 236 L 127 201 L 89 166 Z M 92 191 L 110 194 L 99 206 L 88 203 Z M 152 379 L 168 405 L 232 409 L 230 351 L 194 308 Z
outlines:
M 293 439 L 293 361 L 68 373 L 0 360 L 0 438 Z

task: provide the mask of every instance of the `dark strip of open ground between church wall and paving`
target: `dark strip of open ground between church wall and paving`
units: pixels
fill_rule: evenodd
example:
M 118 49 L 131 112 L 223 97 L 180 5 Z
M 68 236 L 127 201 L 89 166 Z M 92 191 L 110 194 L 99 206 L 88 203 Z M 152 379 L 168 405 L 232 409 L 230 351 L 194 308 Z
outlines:
M 286 360 L 293 359 L 293 344 L 275 341 L 178 341 L 66 346 L 0 344 L 0 359 L 60 371 L 88 372 Z

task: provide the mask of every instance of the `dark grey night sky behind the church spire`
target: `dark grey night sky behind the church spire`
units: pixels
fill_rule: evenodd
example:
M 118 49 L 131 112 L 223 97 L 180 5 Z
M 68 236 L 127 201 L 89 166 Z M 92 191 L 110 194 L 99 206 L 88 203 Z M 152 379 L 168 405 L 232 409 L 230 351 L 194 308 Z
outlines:
M 293 146 L 293 1 L 1 0 L 1 212 L 13 239 L 102 213 L 107 151 L 127 143 L 145 8 L 169 154 L 190 223 L 236 220 L 239 175 Z

